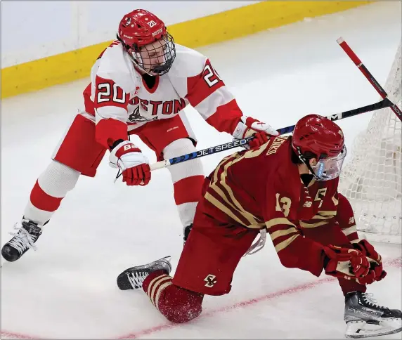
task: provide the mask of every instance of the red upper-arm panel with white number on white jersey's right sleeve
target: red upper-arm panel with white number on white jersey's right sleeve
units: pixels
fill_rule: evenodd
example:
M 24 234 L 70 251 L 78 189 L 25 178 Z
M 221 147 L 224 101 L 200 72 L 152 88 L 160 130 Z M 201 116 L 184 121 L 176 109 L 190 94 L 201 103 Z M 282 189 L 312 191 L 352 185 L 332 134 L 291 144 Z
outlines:
M 194 77 L 187 79 L 187 96 L 190 104 L 195 107 L 205 100 L 211 93 L 225 84 L 219 78 L 211 63 L 207 59 L 204 70 Z

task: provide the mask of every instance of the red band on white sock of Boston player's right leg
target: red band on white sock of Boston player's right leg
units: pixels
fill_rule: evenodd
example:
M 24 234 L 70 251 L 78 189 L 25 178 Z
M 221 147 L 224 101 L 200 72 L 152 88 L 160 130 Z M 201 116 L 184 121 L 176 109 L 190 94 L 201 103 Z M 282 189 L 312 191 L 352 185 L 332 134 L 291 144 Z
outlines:
M 174 183 L 174 202 L 176 202 L 176 205 L 199 202 L 202 196 L 201 191 L 204 180 L 205 177 L 200 175 L 186 177 Z

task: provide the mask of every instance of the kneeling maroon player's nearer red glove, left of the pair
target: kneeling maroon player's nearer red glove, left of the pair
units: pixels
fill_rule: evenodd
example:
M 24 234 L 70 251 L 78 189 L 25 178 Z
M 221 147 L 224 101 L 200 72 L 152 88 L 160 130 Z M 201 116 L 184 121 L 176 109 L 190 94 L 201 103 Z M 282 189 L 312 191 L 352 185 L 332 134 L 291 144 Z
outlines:
M 327 275 L 356 280 L 370 272 L 368 258 L 361 251 L 333 245 L 324 247 L 324 251 L 324 269 Z

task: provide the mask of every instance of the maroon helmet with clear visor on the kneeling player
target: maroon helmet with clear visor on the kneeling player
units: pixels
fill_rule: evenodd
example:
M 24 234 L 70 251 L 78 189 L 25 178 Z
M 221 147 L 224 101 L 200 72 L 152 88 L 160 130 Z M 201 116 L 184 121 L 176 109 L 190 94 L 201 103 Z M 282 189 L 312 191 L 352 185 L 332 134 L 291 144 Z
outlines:
M 292 148 L 318 181 L 328 181 L 339 176 L 346 157 L 342 129 L 320 115 L 307 115 L 297 122 Z M 317 159 L 316 165 L 309 164 L 311 158 Z

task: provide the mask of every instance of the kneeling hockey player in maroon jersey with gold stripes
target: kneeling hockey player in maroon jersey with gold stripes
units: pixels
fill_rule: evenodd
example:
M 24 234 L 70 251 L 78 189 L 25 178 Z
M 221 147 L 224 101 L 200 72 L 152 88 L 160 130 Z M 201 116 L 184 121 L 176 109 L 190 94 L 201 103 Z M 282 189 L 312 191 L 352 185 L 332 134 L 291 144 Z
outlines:
M 401 310 L 377 306 L 365 293 L 386 273 L 374 247 L 358 240 L 351 205 L 337 192 L 342 130 L 308 115 L 293 136 L 257 137 L 254 148 L 224 158 L 205 179 L 174 277 L 164 258 L 124 270 L 119 288 L 142 287 L 168 320 L 188 322 L 200 315 L 205 294 L 230 292 L 238 262 L 261 249 L 268 232 L 283 266 L 337 277 L 346 336 L 400 332 Z

